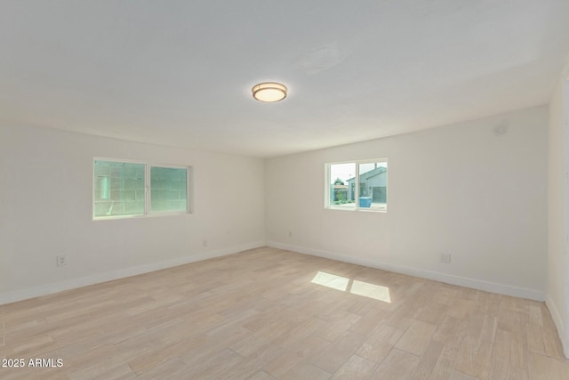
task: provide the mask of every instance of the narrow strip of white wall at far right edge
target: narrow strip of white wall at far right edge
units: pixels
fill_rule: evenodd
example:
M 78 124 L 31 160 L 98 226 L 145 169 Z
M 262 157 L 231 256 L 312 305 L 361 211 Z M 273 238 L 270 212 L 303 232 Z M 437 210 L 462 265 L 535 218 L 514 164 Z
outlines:
M 569 61 L 549 103 L 548 284 L 546 302 L 569 358 Z

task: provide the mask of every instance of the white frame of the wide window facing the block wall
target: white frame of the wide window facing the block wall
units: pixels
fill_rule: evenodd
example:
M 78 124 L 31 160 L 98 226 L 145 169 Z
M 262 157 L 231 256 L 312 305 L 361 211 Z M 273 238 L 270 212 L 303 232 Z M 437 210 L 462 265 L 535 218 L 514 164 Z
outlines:
M 116 164 L 138 164 L 144 166 L 144 214 L 125 214 L 125 215 L 108 215 L 96 216 L 95 215 L 95 162 L 106 161 Z M 164 211 L 151 213 L 151 168 L 161 167 L 167 169 L 186 169 L 186 209 L 183 211 Z M 170 215 L 185 215 L 193 214 L 193 166 L 172 165 L 172 164 L 157 164 L 140 160 L 125 159 L 125 158 L 100 158 L 95 157 L 92 159 L 92 220 L 93 221 L 107 221 L 115 219 L 132 219 L 132 218 L 146 218 L 156 216 L 170 216 Z

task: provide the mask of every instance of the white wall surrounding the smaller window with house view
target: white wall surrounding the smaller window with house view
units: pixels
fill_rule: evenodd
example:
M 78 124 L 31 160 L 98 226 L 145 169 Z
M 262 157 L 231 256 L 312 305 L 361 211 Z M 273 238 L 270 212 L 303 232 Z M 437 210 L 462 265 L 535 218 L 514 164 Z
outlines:
M 543 300 L 547 120 L 524 109 L 268 159 L 268 244 Z M 366 158 L 389 158 L 388 212 L 326 210 L 325 163 Z

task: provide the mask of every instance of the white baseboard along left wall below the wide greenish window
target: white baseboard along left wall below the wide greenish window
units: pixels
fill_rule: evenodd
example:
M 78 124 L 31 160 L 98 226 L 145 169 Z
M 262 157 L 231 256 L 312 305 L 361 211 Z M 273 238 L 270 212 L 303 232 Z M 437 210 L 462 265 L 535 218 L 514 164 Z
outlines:
M 160 271 L 162 269 L 172 268 L 187 263 L 196 263 L 215 257 L 233 255 L 246 251 L 248 249 L 259 247 L 265 247 L 265 242 L 257 241 L 241 246 L 224 248 L 217 251 L 188 255 L 164 262 L 148 263 L 132 268 L 93 274 L 92 276 L 82 277 L 79 279 L 66 279 L 64 281 L 53 282 L 51 284 L 45 284 L 39 287 L 28 287 L 20 290 L 7 291 L 0 293 L 0 305 L 6 303 L 15 303 L 18 301 L 39 297 L 41 295 L 51 295 L 53 293 L 62 292 L 64 290 L 75 289 L 77 287 L 86 287 L 88 285 L 99 284 L 101 282 L 112 281 L 114 279 L 124 279 L 126 277 L 136 276 L 138 274 L 148 273 L 150 271 Z

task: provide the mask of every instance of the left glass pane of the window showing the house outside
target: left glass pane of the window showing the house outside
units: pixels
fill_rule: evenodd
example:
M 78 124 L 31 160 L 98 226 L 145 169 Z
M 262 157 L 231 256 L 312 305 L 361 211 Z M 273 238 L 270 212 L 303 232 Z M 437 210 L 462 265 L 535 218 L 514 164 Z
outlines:
M 356 164 L 330 165 L 330 206 L 356 208 Z

